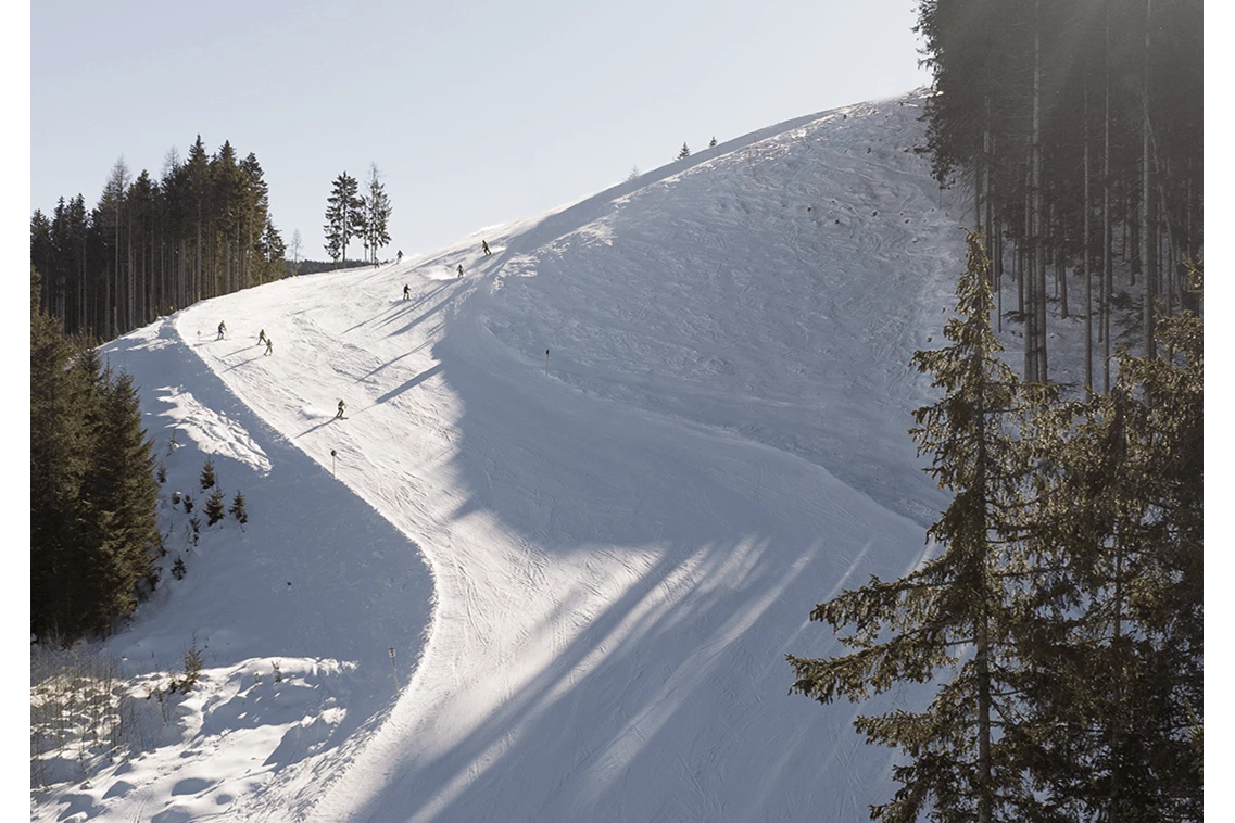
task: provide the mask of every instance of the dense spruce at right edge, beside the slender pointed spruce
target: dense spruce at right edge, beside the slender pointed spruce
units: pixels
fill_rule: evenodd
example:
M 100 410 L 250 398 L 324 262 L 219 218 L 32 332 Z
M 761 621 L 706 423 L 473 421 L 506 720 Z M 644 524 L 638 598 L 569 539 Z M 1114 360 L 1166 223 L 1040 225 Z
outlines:
M 1123 354 L 1110 392 L 1031 433 L 1055 471 L 1028 516 L 1050 574 L 1024 642 L 1049 677 L 1026 711 L 1049 732 L 1039 785 L 1074 819 L 1203 819 L 1202 321 L 1157 339 L 1166 353 Z

